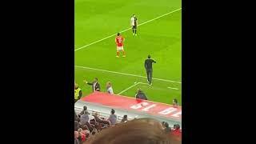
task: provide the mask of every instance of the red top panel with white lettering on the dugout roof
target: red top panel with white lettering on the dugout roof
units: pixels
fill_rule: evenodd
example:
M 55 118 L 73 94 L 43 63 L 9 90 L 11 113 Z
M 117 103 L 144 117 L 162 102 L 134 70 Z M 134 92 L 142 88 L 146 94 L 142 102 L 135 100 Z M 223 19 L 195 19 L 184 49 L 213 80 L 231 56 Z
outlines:
M 138 100 L 136 98 L 125 97 L 122 95 L 94 92 L 81 99 L 85 102 L 93 102 L 102 106 L 110 106 L 118 109 L 136 110 L 138 112 L 182 120 L 182 107 L 172 106 L 160 102 Z

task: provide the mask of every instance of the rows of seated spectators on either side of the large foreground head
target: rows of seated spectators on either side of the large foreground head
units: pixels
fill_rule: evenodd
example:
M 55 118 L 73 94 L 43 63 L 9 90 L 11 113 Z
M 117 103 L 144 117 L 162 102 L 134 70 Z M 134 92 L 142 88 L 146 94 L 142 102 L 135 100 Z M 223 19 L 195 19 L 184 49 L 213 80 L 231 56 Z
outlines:
M 114 110 L 110 114 L 102 114 L 95 110 L 88 110 L 86 106 L 83 110 L 75 110 L 74 113 L 74 143 L 82 144 L 88 139 L 97 136 L 102 130 L 111 129 L 122 123 L 133 121 L 129 116 L 115 115 Z M 135 118 L 136 119 L 136 118 Z M 162 123 L 162 130 L 166 134 L 174 135 L 181 141 L 182 130 L 179 125 L 170 127 L 167 122 Z

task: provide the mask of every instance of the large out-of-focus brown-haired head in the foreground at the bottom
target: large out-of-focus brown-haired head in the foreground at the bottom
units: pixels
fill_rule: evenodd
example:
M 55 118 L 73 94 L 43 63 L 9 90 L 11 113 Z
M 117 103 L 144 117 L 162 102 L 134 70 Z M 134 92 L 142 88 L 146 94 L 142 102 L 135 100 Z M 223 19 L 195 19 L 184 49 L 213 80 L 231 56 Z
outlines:
M 170 144 L 170 137 L 156 125 L 160 122 L 153 119 L 136 119 L 102 130 L 88 144 Z M 117 137 L 118 135 L 118 137 Z

